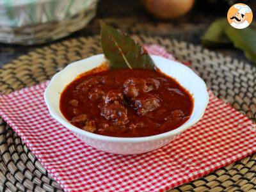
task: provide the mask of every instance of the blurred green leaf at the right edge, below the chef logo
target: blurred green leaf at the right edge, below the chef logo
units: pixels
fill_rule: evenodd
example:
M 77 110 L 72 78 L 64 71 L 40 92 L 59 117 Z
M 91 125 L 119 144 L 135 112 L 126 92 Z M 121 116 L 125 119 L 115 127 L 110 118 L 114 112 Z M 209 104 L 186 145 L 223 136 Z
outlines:
M 244 51 L 249 60 L 256 62 L 256 30 L 250 28 L 235 29 L 228 26 L 225 28 L 225 34 L 235 47 Z

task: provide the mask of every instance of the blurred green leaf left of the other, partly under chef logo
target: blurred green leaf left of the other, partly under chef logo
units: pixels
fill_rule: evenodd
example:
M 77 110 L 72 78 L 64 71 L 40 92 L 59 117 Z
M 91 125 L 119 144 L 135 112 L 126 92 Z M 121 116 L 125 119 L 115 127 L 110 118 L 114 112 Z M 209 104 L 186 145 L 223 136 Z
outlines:
M 230 44 L 230 40 L 225 35 L 225 28 L 227 26 L 228 22 L 226 18 L 213 22 L 202 37 L 203 45 L 205 47 L 216 47 L 221 44 Z

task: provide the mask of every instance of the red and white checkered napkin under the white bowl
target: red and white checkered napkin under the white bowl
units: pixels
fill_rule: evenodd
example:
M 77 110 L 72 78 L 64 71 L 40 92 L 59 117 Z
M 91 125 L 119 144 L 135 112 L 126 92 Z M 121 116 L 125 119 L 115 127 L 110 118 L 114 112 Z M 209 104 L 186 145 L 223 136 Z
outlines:
M 147 49 L 172 59 L 163 47 Z M 46 86 L 1 96 L 0 115 L 65 191 L 164 191 L 256 151 L 255 125 L 209 93 L 204 118 L 168 145 L 132 156 L 102 152 L 49 115 Z

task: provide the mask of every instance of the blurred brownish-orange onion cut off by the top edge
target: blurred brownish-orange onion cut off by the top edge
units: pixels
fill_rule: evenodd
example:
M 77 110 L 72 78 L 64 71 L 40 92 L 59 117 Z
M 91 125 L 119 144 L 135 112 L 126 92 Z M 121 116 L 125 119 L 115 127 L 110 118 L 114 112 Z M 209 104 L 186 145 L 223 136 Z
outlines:
M 194 0 L 143 0 L 148 12 L 159 19 L 174 19 L 191 10 Z

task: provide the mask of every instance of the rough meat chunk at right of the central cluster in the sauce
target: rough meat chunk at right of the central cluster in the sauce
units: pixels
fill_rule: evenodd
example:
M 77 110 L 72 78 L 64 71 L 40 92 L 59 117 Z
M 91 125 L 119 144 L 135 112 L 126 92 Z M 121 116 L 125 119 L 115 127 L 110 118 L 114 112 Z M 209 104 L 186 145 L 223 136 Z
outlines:
M 149 111 L 154 111 L 160 106 L 160 100 L 150 93 L 140 94 L 133 100 L 134 109 L 138 115 L 145 115 Z

